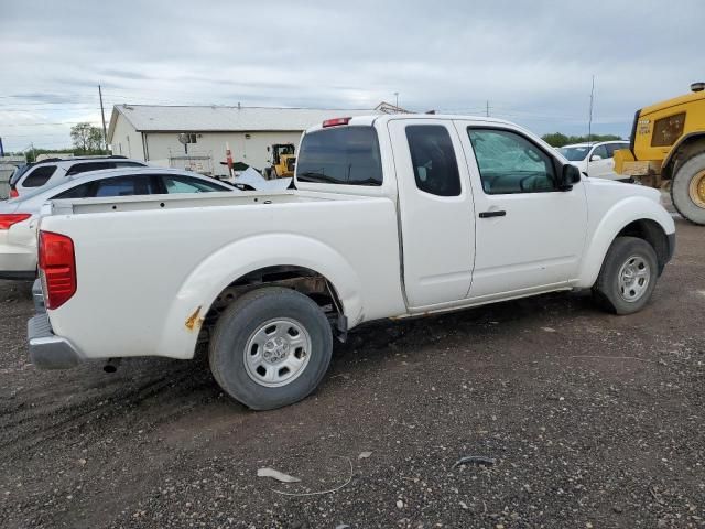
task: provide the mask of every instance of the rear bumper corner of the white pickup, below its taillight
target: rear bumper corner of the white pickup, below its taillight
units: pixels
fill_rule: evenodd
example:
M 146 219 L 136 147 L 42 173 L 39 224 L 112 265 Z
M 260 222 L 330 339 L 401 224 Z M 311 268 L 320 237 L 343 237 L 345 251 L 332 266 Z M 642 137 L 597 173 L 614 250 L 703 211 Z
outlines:
M 28 322 L 26 335 L 32 364 L 41 369 L 68 369 L 83 361 L 70 342 L 54 334 L 45 312 Z

